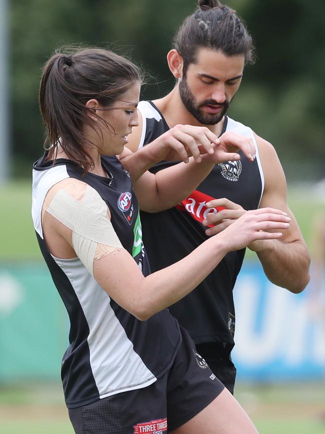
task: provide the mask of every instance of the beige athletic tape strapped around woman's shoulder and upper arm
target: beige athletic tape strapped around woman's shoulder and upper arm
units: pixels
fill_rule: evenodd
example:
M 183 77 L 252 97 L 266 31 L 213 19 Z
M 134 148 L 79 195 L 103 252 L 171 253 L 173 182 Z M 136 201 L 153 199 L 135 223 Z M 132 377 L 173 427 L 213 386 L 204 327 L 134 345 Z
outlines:
M 73 249 L 92 276 L 94 258 L 100 259 L 116 248 L 123 248 L 107 217 L 106 203 L 89 185 L 80 200 L 62 187 L 45 211 L 72 231 Z M 102 249 L 102 245 L 106 248 Z

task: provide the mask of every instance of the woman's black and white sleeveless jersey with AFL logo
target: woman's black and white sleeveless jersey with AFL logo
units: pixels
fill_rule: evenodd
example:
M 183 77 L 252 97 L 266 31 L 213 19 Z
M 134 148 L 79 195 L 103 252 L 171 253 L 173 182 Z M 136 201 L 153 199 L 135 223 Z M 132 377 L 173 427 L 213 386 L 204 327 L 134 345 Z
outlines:
M 139 210 L 131 179 L 116 157 L 102 157 L 107 177 L 83 175 L 66 159 L 33 167 L 32 219 L 42 255 L 66 307 L 69 346 L 61 377 L 68 408 L 126 390 L 146 387 L 171 365 L 180 344 L 179 326 L 167 310 L 139 321 L 96 283 L 78 258 L 50 255 L 43 240 L 41 209 L 47 191 L 68 177 L 93 187 L 106 202 L 122 246 L 145 275 L 149 273 L 141 240 Z M 127 273 L 127 270 L 125 270 Z

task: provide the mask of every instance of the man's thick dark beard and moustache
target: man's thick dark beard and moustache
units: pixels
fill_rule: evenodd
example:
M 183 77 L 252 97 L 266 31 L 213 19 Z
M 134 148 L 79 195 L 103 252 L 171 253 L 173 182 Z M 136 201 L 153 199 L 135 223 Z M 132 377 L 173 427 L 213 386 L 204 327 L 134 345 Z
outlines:
M 189 111 L 189 113 L 194 116 L 194 118 L 203 125 L 214 125 L 220 122 L 220 120 L 223 118 L 225 112 L 228 110 L 230 102 L 225 100 L 223 103 L 218 103 L 214 101 L 213 99 L 202 101 L 201 103 L 197 103 L 195 100 L 193 94 L 191 93 L 186 77 L 182 78 L 178 85 L 179 89 L 179 96 L 181 99 L 181 102 L 184 104 L 186 109 Z M 212 113 L 203 113 L 201 110 L 201 107 L 205 105 L 216 105 L 216 106 L 222 106 L 222 110 L 218 114 L 212 114 Z

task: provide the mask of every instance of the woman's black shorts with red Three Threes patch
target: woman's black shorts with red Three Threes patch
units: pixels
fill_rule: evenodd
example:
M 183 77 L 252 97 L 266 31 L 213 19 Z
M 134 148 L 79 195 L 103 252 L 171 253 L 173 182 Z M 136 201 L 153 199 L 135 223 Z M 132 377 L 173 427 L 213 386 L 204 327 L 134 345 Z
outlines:
M 76 434 L 166 434 L 223 390 L 187 332 L 170 369 L 151 385 L 68 410 Z

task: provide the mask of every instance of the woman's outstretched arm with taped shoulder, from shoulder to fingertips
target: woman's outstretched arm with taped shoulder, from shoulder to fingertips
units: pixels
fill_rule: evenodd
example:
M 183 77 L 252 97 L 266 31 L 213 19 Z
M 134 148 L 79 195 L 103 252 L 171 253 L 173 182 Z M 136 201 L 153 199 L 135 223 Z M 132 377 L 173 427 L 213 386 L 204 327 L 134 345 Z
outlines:
M 99 194 L 77 180 L 73 185 L 54 187 L 55 191 L 47 193 L 42 212 L 44 240 L 50 253 L 65 259 L 78 256 L 109 297 L 140 320 L 192 291 L 229 251 L 241 249 L 254 240 L 276 239 L 280 233 L 267 231 L 287 227 L 281 211 L 271 208 L 247 211 L 181 261 L 144 277 L 119 244 L 110 224 L 109 210 Z

